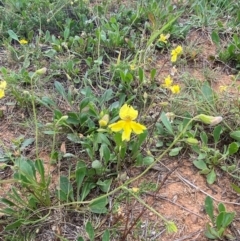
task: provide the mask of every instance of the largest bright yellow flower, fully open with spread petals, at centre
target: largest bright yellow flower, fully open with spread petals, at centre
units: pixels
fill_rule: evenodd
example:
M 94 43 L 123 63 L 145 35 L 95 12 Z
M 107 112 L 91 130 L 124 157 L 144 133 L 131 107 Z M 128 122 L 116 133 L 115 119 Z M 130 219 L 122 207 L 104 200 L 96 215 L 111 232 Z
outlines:
M 147 129 L 144 125 L 141 125 L 141 124 L 137 123 L 136 121 L 134 121 L 138 116 L 138 111 L 134 110 L 134 108 L 130 105 L 124 104 L 119 111 L 119 116 L 120 116 L 121 120 L 109 125 L 109 128 L 113 132 L 118 132 L 118 131 L 123 130 L 123 133 L 122 133 L 123 141 L 130 140 L 132 131 L 135 134 L 139 135 L 139 134 L 143 133 L 144 130 Z

